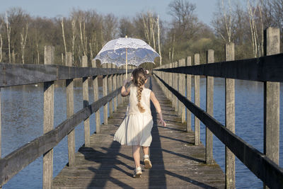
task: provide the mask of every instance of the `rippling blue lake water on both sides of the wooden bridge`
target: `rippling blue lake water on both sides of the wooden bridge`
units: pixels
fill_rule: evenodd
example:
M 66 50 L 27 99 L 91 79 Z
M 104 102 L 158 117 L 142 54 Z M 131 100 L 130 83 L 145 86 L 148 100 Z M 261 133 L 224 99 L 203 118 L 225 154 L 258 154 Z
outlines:
M 192 82 L 193 83 L 193 82 Z M 205 79 L 200 79 L 200 106 L 205 110 Z M 67 118 L 66 90 L 57 83 L 54 90 L 54 126 Z M 236 80 L 236 134 L 259 151 L 263 151 L 263 84 Z M 283 100 L 283 86 L 280 86 L 280 101 Z M 192 87 L 192 99 L 194 99 Z M 214 79 L 214 118 L 225 123 L 224 79 Z M 102 88 L 99 88 L 102 96 Z M 81 80 L 75 82 L 74 112 L 83 108 Z M 89 89 L 90 103 L 93 103 L 93 88 Z M 192 100 L 193 101 L 193 100 Z M 1 88 L 2 112 L 2 157 L 43 133 L 43 89 L 42 86 L 16 86 Z M 283 166 L 283 106 L 280 105 L 280 161 Z M 103 122 L 103 108 L 100 108 Z M 91 115 L 91 133 L 96 130 L 94 114 Z M 205 144 L 205 127 L 201 123 L 201 141 Z M 194 129 L 194 118 L 192 118 Z M 76 151 L 84 143 L 83 123 L 76 127 Z M 214 137 L 214 159 L 225 171 L 225 147 Z M 54 176 L 68 162 L 67 137 L 54 148 Z M 42 156 L 14 176 L 4 188 L 42 188 Z M 236 187 L 262 188 L 262 182 L 236 159 Z

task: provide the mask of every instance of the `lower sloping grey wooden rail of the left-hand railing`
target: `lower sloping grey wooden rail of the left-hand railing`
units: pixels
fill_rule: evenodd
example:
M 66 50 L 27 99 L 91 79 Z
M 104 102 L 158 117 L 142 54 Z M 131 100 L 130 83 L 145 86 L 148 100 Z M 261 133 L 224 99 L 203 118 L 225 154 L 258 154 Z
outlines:
M 79 123 L 88 118 L 92 113 L 95 113 L 100 107 L 110 101 L 110 99 L 117 96 L 121 88 L 117 88 L 116 91 L 108 94 L 108 96 L 100 98 L 98 101 L 71 115 L 71 117 L 64 120 L 54 130 L 37 137 L 28 144 L 23 145 L 23 147 L 11 152 L 11 154 L 8 154 L 3 159 L 0 159 L 0 185 L 7 183 L 16 173 L 28 166 L 28 164 L 53 149 L 67 134 L 74 130 L 76 125 L 79 125 Z

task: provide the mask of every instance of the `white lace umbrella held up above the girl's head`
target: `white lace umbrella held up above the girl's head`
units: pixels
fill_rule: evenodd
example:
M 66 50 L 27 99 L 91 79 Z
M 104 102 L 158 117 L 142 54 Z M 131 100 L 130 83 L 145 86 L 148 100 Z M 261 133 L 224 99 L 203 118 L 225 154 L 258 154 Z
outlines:
M 126 36 L 107 42 L 94 59 L 99 59 L 101 64 L 111 63 L 117 67 L 126 65 L 127 71 L 127 64 L 138 67 L 144 62 L 154 63 L 156 57 L 160 55 L 146 42 Z

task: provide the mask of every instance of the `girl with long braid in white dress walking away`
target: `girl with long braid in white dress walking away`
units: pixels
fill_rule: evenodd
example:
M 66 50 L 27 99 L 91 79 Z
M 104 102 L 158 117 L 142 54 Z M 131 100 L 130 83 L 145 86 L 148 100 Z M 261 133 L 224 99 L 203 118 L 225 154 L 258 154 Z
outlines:
M 132 85 L 126 88 L 127 82 L 132 79 Z M 150 110 L 150 100 L 154 103 L 156 112 L 159 115 L 159 123 L 166 127 L 161 113 L 161 107 L 154 92 L 145 88 L 147 76 L 146 70 L 142 68 L 134 69 L 131 79 L 126 79 L 122 86 L 121 96 L 129 96 L 129 105 L 126 117 L 115 133 L 114 140 L 120 144 L 132 146 L 134 157 L 134 178 L 141 176 L 141 166 L 139 164 L 139 149 L 144 151 L 144 168 L 151 168 L 149 160 L 149 146 L 151 144 L 151 129 L 154 124 Z M 149 100 L 150 99 L 150 100 Z

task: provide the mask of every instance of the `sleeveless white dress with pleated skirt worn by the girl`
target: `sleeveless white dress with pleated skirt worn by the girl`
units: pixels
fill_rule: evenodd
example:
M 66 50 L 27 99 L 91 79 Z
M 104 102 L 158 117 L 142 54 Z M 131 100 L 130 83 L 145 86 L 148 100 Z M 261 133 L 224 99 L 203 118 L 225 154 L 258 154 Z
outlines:
M 114 139 L 122 145 L 140 145 L 149 147 L 151 144 L 151 129 L 154 125 L 150 110 L 149 88 L 141 91 L 141 106 L 145 109 L 144 113 L 139 112 L 137 107 L 137 86 L 130 86 L 129 105 L 125 119 L 114 135 Z

